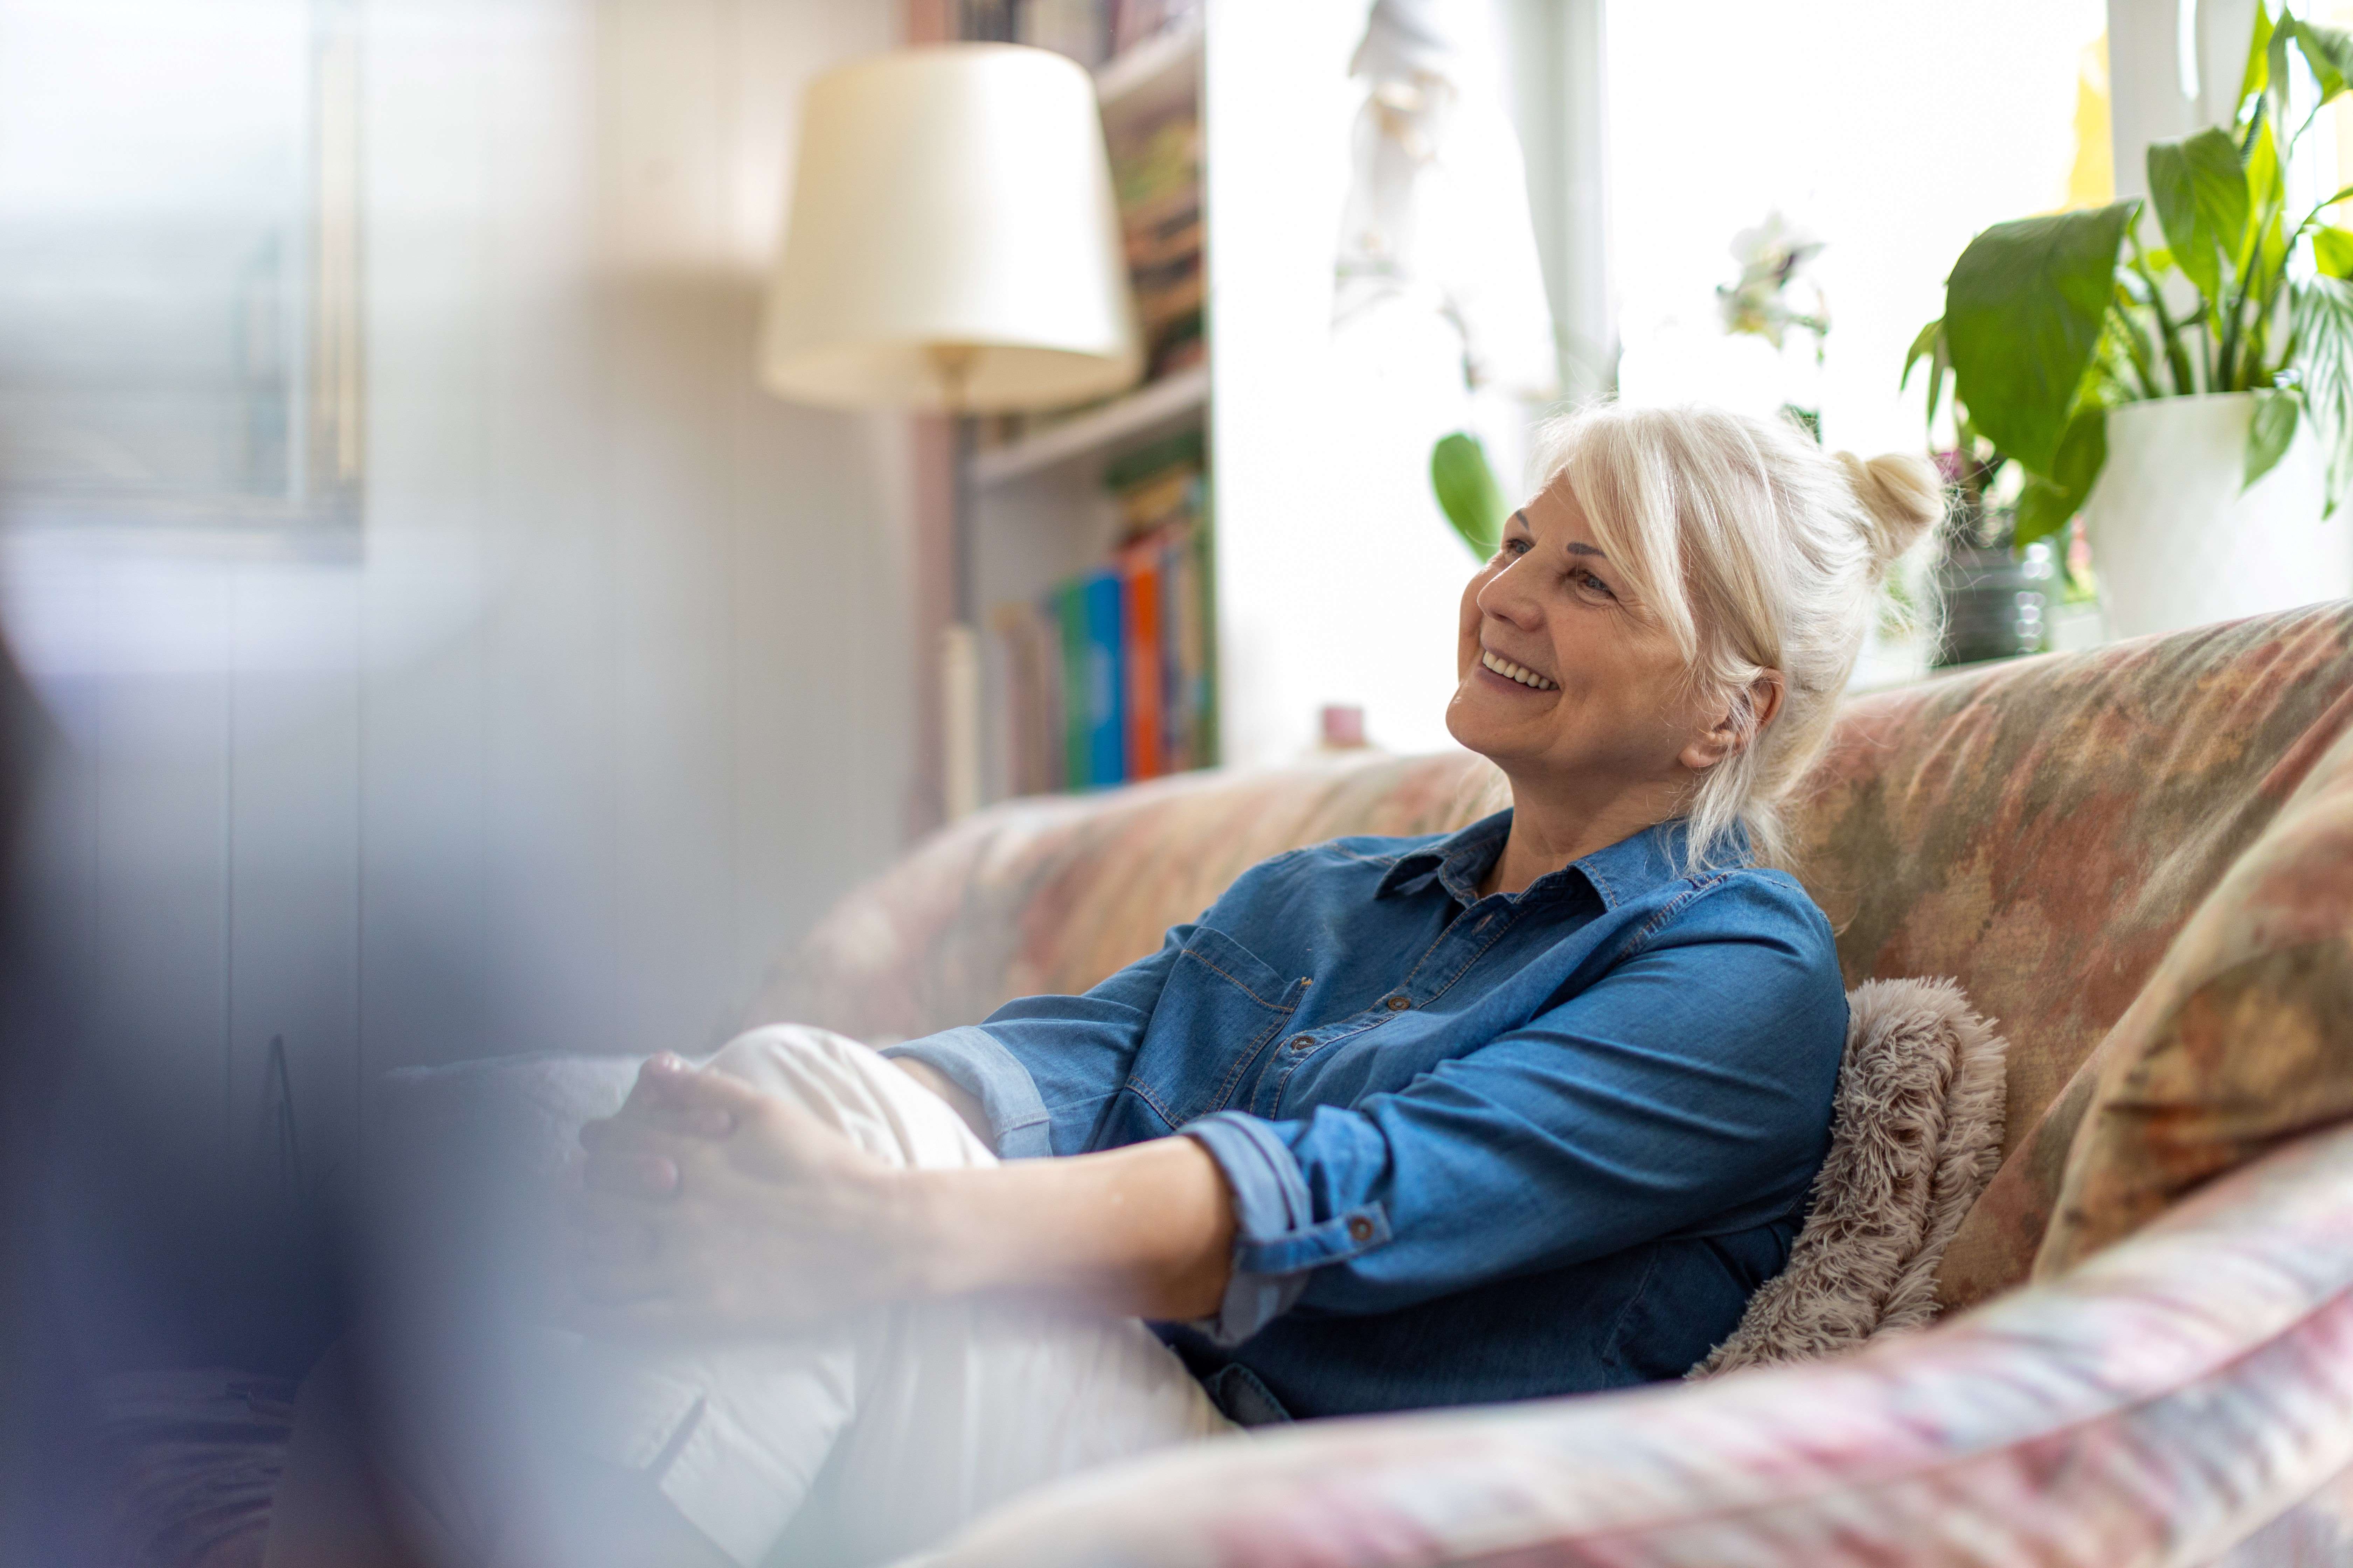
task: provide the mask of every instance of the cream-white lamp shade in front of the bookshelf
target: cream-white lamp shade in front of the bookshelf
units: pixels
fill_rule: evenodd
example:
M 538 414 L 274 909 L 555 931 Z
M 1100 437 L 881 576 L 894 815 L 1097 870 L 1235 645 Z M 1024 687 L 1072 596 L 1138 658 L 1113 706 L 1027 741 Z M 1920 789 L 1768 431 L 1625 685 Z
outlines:
M 809 85 L 760 378 L 845 409 L 1045 409 L 1136 381 L 1094 80 L 1016 45 L 934 45 Z

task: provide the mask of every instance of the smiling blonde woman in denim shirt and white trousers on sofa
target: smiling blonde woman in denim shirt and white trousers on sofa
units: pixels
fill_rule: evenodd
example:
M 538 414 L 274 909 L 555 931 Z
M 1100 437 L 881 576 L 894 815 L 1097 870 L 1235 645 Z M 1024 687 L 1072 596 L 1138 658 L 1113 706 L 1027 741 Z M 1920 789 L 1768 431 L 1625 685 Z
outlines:
M 1511 809 L 1275 856 L 1082 997 L 656 1058 L 591 1124 L 536 1342 L 565 1561 L 887 1561 L 1233 1425 L 1678 1378 L 1732 1333 L 1847 1027 L 1777 806 L 1939 494 L 1713 409 L 1546 451 L 1447 710 Z M 405 1481 L 454 1537 L 515 1516 Z

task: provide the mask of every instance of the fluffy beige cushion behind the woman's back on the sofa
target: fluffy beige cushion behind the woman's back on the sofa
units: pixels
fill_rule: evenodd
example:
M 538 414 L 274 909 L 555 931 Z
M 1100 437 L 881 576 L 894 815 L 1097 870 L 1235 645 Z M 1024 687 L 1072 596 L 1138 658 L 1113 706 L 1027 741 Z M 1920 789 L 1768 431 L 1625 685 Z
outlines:
M 1788 1253 L 1694 1378 L 1802 1361 L 1920 1328 L 1937 1260 L 2002 1152 L 2002 1037 L 1951 980 L 1866 980 L 1847 994 L 1831 1157 Z

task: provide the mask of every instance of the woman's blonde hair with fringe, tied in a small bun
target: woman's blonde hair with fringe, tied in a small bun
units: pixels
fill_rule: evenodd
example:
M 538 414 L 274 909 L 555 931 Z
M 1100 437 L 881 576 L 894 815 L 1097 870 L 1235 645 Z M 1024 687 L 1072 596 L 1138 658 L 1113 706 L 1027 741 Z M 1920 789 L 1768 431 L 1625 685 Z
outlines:
M 1791 423 L 1725 409 L 1593 404 L 1537 433 L 1541 489 L 1567 484 L 1640 604 L 1675 639 L 1692 691 L 1725 703 L 1739 750 L 1689 797 L 1687 858 L 1734 825 L 1786 863 L 1781 804 L 1831 736 L 1880 583 L 1944 512 L 1927 458 L 1824 451 Z M 1758 724 L 1751 684 L 1784 679 Z

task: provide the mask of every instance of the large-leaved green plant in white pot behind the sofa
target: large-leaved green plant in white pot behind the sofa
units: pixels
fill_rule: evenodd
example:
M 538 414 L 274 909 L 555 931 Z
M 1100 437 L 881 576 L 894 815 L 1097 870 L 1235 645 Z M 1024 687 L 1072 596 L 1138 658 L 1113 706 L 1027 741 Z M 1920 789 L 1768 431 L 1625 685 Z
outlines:
M 2289 113 L 2289 73 L 2313 85 Z M 2014 548 L 2080 510 L 2118 635 L 2353 590 L 2353 230 L 2289 226 L 2287 165 L 2353 35 L 2259 2 L 2238 106 L 2148 148 L 2139 200 L 1995 223 L 1904 364 L 2012 458 Z M 2287 129 L 2282 129 L 2287 127 Z M 2155 233 L 2144 233 L 2153 216 Z

